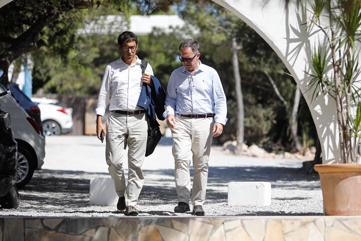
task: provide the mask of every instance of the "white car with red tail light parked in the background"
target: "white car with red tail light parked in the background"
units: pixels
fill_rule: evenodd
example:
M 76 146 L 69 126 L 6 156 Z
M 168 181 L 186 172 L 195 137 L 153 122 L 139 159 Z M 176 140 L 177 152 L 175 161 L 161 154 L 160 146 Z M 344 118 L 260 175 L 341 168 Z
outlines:
M 40 119 L 43 122 L 43 133 L 45 135 L 60 135 L 73 131 L 73 109 L 64 108 L 59 100 L 47 98 L 31 98 L 32 102 L 38 104 Z

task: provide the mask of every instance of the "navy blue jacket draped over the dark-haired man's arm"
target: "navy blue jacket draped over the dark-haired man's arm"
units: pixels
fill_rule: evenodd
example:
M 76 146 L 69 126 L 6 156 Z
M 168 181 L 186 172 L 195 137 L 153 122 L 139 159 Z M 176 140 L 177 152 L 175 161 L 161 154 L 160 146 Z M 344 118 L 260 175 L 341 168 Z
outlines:
M 149 119 L 155 120 L 158 117 L 159 120 L 164 120 L 165 91 L 156 77 L 151 76 L 151 79 L 153 86 L 143 83 L 137 106 L 147 110 Z

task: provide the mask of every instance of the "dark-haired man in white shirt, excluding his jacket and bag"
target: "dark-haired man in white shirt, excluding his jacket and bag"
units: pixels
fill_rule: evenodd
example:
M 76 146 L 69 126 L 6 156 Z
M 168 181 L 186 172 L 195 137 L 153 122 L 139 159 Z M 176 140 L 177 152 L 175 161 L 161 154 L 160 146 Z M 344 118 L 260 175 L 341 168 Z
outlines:
M 118 49 L 122 53 L 121 58 L 106 66 L 101 82 L 95 110 L 96 134 L 100 140 L 101 133 L 106 135 L 105 157 L 119 196 L 117 209 L 126 210 L 127 216 L 137 216 L 139 211 L 135 206 L 144 182 L 141 167 L 148 137 L 146 110 L 137 106 L 137 103 L 143 83 L 152 85 L 153 70 L 148 64 L 142 75 L 141 60 L 135 55 L 138 39 L 134 33 L 121 33 L 118 37 Z M 110 115 L 104 129 L 101 117 L 108 106 L 109 96 Z M 129 148 L 127 186 L 123 172 L 123 154 L 126 146 Z

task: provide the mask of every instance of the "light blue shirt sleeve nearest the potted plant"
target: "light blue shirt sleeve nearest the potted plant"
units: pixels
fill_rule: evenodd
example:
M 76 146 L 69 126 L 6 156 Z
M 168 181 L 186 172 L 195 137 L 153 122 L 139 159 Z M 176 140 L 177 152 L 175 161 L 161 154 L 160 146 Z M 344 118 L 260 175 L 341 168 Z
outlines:
M 214 116 L 214 122 L 225 125 L 227 122 L 226 95 L 223 91 L 221 79 L 219 79 L 218 73 L 216 71 L 213 73 L 212 91 L 214 99 L 214 112 L 216 114 L 216 116 Z

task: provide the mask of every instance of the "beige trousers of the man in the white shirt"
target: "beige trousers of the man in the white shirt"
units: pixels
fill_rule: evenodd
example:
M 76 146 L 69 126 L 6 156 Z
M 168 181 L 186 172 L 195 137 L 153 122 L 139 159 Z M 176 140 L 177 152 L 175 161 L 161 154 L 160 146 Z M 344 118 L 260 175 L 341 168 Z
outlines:
M 144 177 L 142 164 L 148 137 L 148 116 L 121 115 L 111 112 L 106 121 L 105 158 L 119 197 L 125 194 L 126 206 L 136 206 Z M 128 145 L 128 185 L 125 185 L 123 154 Z

